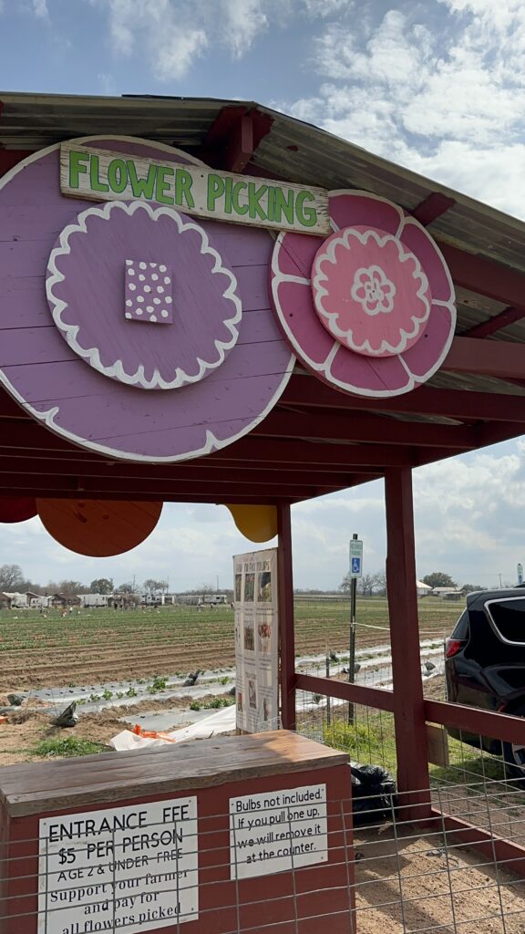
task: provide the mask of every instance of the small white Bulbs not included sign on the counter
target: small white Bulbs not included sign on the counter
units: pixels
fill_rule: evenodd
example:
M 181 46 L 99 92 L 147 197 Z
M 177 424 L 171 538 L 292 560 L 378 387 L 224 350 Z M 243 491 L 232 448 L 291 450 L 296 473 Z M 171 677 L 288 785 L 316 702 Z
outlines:
M 326 785 L 231 798 L 230 859 L 232 879 L 327 862 Z

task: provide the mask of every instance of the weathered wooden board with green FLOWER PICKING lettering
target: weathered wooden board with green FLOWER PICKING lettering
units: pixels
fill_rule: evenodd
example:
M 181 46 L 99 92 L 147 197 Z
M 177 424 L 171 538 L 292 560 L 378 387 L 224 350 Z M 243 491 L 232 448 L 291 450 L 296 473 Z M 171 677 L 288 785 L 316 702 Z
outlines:
M 63 194 L 91 201 L 169 205 L 184 214 L 296 233 L 332 233 L 328 192 L 305 185 L 216 172 L 206 166 L 63 143 Z

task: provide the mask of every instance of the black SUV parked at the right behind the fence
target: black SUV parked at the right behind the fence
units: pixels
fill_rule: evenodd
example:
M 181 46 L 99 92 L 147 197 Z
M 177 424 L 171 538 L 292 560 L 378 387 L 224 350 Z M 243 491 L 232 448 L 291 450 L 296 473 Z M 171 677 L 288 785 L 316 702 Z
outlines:
M 525 590 L 470 593 L 445 648 L 447 700 L 525 716 Z M 481 746 L 525 779 L 525 747 L 449 729 Z

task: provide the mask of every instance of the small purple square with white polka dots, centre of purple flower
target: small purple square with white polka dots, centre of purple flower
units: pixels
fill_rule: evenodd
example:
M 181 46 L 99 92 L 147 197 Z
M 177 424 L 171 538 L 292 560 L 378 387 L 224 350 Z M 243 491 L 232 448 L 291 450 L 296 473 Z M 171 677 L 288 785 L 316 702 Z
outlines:
M 124 315 L 130 321 L 173 323 L 173 279 L 163 262 L 126 260 Z

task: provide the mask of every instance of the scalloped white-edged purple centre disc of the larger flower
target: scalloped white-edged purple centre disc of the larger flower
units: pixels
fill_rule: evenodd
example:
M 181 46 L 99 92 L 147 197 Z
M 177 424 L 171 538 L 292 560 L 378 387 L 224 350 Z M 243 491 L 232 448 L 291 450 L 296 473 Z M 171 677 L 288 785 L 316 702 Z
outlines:
M 236 343 L 236 278 L 213 238 L 173 208 L 143 201 L 90 207 L 61 233 L 48 270 L 59 331 L 79 357 L 121 383 L 177 389 L 198 382 Z

